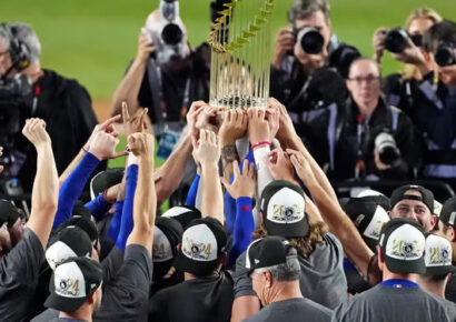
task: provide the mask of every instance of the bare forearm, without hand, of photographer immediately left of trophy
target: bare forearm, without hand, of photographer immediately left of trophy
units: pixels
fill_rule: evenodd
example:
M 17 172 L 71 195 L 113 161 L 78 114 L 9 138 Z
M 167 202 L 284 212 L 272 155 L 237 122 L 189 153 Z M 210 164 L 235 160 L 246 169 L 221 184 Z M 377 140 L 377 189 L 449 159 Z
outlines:
M 112 94 L 111 115 L 121 113 L 121 102 L 126 101 L 130 114 L 138 109 L 138 94 L 146 72 L 147 61 L 135 60 L 119 87 Z

